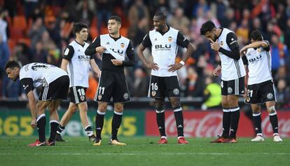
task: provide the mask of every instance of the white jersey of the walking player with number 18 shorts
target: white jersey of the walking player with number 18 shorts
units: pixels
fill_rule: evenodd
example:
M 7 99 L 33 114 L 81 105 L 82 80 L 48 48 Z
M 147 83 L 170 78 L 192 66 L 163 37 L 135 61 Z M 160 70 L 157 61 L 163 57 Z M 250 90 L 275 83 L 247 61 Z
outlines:
M 89 55 L 85 55 L 85 49 L 88 48 L 89 44 L 85 43 L 83 46 L 76 41 L 69 43 L 69 46 L 64 51 L 64 59 L 66 56 L 71 56 L 69 58 L 69 63 L 67 64 L 67 72 L 69 74 L 69 87 L 82 86 L 88 88 L 88 75 L 90 71 L 90 59 Z M 72 50 L 73 49 L 73 50 Z M 69 55 L 69 51 L 74 54 Z

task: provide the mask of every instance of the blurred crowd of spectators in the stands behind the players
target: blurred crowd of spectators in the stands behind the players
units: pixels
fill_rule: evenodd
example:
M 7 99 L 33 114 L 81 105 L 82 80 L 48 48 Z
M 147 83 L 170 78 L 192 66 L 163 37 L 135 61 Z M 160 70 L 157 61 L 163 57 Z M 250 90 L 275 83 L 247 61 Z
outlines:
M 197 50 L 179 73 L 181 96 L 202 97 L 208 83 L 219 83 L 212 73 L 219 55 L 209 41 L 200 36 L 200 27 L 212 20 L 237 34 L 240 46 L 249 43 L 249 34 L 259 29 L 270 41 L 272 76 L 280 108 L 290 107 L 290 0 L 0 0 L 0 100 L 25 100 L 20 83 L 11 83 L 5 63 L 17 60 L 22 65 L 45 62 L 60 67 L 62 54 L 73 39 L 74 22 L 89 25 L 91 42 L 98 34 L 107 33 L 106 21 L 111 15 L 122 18 L 121 34 L 137 48 L 153 28 L 156 11 L 167 13 L 168 25 L 179 29 L 195 43 Z M 137 49 L 135 49 L 136 51 Z M 179 48 L 177 60 L 185 50 Z M 151 57 L 150 51 L 145 53 Z M 99 64 L 100 56 L 95 59 Z M 134 69 L 125 70 L 132 97 L 146 97 L 150 71 L 135 56 Z M 207 81 L 212 78 L 212 81 Z M 210 80 L 210 79 L 209 79 Z M 97 78 L 90 74 L 88 98 L 93 99 Z

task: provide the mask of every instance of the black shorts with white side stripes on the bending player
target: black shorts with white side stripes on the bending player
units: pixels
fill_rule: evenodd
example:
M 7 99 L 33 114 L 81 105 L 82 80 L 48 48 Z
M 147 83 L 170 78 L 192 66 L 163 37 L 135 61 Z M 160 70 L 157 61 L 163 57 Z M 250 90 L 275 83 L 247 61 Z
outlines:
M 41 88 L 39 100 L 50 101 L 56 99 L 67 99 L 69 91 L 69 76 L 61 76 L 55 81 Z

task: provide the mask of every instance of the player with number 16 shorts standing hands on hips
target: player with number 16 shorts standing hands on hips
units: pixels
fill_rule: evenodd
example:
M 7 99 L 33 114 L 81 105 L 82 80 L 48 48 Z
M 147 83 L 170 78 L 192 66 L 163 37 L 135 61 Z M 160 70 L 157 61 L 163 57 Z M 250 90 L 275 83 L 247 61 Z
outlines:
M 149 97 L 156 100 L 156 120 L 160 132 L 158 144 L 167 144 L 165 133 L 165 97 L 170 99 L 174 109 L 174 117 L 177 124 L 178 143 L 188 144 L 184 138 L 184 118 L 180 103 L 180 88 L 177 78 L 177 70 L 184 66 L 188 57 L 193 53 L 193 45 L 177 29 L 167 26 L 166 15 L 158 12 L 153 17 L 155 29 L 146 34 L 138 48 L 138 56 L 151 70 L 149 84 Z M 181 62 L 175 63 L 179 46 L 187 48 Z M 146 47 L 151 47 L 153 62 L 148 62 L 143 55 Z

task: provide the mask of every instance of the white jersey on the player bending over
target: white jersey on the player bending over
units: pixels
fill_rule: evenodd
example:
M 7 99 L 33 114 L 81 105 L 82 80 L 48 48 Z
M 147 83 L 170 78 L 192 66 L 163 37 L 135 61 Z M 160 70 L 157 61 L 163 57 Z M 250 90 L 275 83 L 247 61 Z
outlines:
M 52 64 L 30 63 L 20 69 L 20 80 L 32 78 L 34 88 L 46 86 L 61 76 L 67 76 L 67 72 Z

